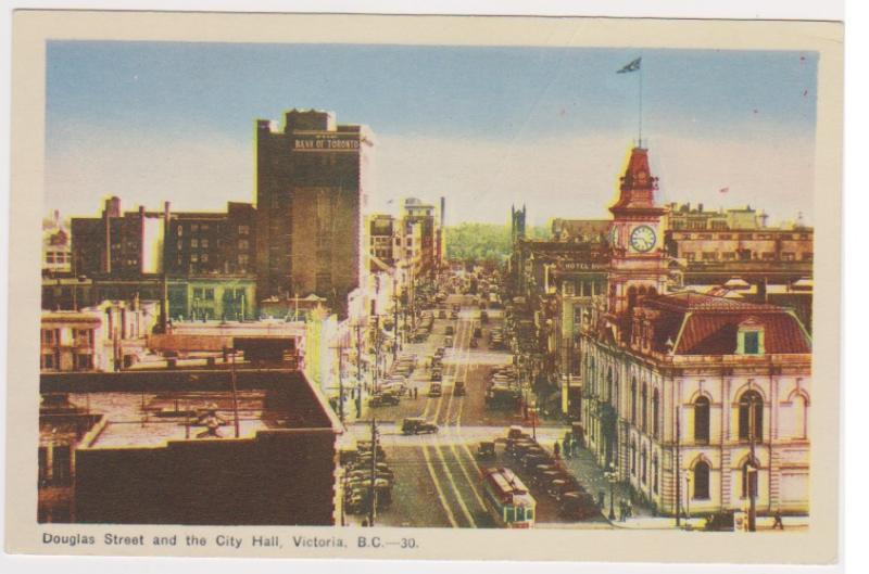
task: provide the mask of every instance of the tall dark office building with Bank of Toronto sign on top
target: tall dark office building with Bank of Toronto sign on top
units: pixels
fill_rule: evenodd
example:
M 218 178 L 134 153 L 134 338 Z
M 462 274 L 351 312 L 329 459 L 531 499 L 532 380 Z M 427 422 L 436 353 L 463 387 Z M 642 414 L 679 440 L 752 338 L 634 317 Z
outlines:
M 260 298 L 326 297 L 347 315 L 365 273 L 362 213 L 371 135 L 328 112 L 291 110 L 282 129 L 256 123 Z

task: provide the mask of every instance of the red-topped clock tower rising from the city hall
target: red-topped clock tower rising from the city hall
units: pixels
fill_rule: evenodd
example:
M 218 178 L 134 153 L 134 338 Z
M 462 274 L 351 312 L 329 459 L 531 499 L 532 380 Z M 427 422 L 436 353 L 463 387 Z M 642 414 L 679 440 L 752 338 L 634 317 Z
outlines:
M 609 312 L 629 314 L 643 295 L 663 293 L 667 284 L 664 232 L 667 208 L 655 203 L 658 178 L 648 169 L 648 151 L 631 150 L 613 213 Z

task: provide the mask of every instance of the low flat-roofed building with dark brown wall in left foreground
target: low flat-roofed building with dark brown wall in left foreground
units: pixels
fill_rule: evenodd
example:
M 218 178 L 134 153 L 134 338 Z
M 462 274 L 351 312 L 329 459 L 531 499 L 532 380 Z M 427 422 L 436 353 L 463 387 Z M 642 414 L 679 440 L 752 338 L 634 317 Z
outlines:
M 75 450 L 73 522 L 336 523 L 340 423 L 301 372 L 239 371 L 235 398 L 226 371 L 142 374 L 92 383 L 114 392 L 90 394 L 106 413 Z

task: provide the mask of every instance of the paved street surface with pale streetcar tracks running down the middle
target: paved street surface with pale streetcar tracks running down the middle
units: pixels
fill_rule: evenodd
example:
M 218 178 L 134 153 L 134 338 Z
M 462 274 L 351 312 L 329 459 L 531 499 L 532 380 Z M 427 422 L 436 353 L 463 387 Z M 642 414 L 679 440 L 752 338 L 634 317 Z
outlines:
M 486 407 L 484 392 L 489 373 L 494 366 L 508 365 L 506 350 L 489 349 L 489 329 L 501 324 L 499 316 L 483 327 L 479 348 L 470 348 L 474 327 L 480 326 L 479 315 L 466 297 L 452 295 L 448 304 L 464 304 L 457 320 L 436 319 L 429 341 L 406 345 L 405 352 L 416 353 L 420 368 L 414 372 L 411 386 L 417 387 L 416 399 L 403 398 L 401 404 L 378 407 L 363 412 L 363 420 L 348 426 L 345 441 L 367 438 L 370 417 L 378 423 L 387 462 L 395 473 L 392 505 L 379 514 L 377 524 L 394 526 L 493 527 L 480 484 L 480 469 L 474 452 L 480 441 L 505 436 L 506 428 L 520 424 L 521 414 L 515 410 L 491 410 Z M 443 369 L 443 394 L 428 397 L 429 371 L 421 368 L 425 359 L 443 345 L 448 324 L 455 329 L 454 347 L 448 352 Z M 466 395 L 453 395 L 453 383 L 465 381 Z M 437 422 L 440 431 L 433 435 L 403 436 L 400 424 L 405 417 L 423 417 Z M 552 445 L 564 429 L 547 426 L 537 430 L 542 445 Z M 503 455 L 487 465 L 506 464 Z M 521 475 L 521 474 L 520 474 Z M 558 522 L 555 502 L 542 493 L 538 498 L 538 526 Z M 360 518 L 357 518 L 360 519 Z

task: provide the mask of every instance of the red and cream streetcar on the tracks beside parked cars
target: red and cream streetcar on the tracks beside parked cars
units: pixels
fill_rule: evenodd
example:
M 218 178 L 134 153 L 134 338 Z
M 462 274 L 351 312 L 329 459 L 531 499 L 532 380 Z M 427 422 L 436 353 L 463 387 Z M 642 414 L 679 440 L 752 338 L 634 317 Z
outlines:
M 534 525 L 537 501 L 512 470 L 484 469 L 482 484 L 486 506 L 500 527 L 530 528 Z

